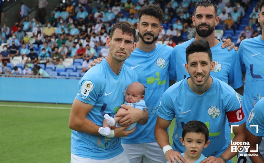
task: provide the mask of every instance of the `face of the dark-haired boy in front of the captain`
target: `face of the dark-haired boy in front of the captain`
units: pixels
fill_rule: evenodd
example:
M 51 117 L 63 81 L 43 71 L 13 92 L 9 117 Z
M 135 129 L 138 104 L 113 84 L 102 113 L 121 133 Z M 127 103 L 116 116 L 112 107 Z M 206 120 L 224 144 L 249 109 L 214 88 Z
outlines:
M 203 151 L 203 148 L 206 148 L 210 140 L 205 142 L 205 136 L 202 133 L 196 133 L 196 132 L 187 132 L 185 134 L 184 140 L 182 137 L 180 138 L 182 145 L 185 146 L 186 154 L 189 157 L 197 158 L 201 156 L 201 152 Z

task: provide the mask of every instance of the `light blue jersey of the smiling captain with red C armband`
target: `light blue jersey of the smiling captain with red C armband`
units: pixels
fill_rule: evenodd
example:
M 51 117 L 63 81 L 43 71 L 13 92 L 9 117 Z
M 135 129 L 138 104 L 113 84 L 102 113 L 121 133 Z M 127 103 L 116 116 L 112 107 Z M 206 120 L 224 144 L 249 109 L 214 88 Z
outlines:
M 206 157 L 217 157 L 230 144 L 230 134 L 225 134 L 224 127 L 227 114 L 235 115 L 232 116 L 235 119 L 232 119 L 233 122 L 229 120 L 229 124 L 245 122 L 238 94 L 225 82 L 212 77 L 213 82 L 209 90 L 198 95 L 190 89 L 187 79 L 175 83 L 164 92 L 157 115 L 166 120 L 176 118 L 172 138 L 173 149 L 179 152 L 185 151 L 180 141 L 184 125 L 192 120 L 205 123 L 209 129 L 211 143 L 203 149 L 202 154 Z M 236 115 L 238 113 L 239 116 Z

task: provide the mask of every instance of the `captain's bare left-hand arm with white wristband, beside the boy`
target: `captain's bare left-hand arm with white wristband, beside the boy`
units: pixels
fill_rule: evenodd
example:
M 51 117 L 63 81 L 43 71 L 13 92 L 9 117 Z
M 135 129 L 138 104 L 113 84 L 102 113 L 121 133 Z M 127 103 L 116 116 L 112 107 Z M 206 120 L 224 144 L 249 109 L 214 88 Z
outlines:
M 159 116 L 157 117 L 157 122 L 155 126 L 156 141 L 159 144 L 160 148 L 163 150 L 163 152 L 165 152 L 165 157 L 169 163 L 176 163 L 174 159 L 176 159 L 177 162 L 185 163 L 186 160 L 181 156 L 181 153 L 178 151 L 174 151 L 170 146 L 169 135 L 167 132 L 167 128 L 169 127 L 170 124 L 171 121 L 162 119 Z

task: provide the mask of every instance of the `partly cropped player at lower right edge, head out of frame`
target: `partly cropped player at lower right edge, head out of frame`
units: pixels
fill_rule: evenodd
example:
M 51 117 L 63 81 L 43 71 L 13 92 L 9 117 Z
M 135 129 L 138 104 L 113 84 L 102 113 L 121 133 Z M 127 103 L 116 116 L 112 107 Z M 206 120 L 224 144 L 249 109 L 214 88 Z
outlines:
M 253 126 L 252 126 L 253 125 Z M 258 156 L 249 156 L 252 162 L 264 162 L 263 154 L 257 150 L 257 146 L 261 143 L 264 135 L 264 98 L 260 99 L 251 110 L 247 123 L 246 142 L 250 147 L 248 154 L 257 154 Z M 255 152 L 250 152 L 255 151 Z M 247 160 L 248 162 L 249 160 Z

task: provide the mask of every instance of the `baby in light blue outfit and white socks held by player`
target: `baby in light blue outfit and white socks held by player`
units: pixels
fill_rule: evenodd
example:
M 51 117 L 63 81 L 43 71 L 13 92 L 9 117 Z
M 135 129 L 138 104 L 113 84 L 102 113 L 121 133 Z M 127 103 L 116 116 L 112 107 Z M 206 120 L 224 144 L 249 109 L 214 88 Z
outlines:
M 143 110 L 146 107 L 145 105 L 145 101 L 144 99 L 144 95 L 145 95 L 145 87 L 143 84 L 139 83 L 139 82 L 134 82 L 129 84 L 126 92 L 125 92 L 125 105 L 131 106 L 133 108 L 138 108 L 140 110 Z M 124 108 L 119 108 L 117 113 L 120 112 L 125 112 L 127 111 Z M 99 129 L 99 133 L 100 134 L 104 134 L 104 135 L 109 135 L 110 134 L 110 130 L 111 127 L 115 128 L 116 127 L 121 127 L 117 124 L 117 122 L 122 119 L 123 116 L 118 116 L 118 117 L 110 117 L 108 114 L 104 115 L 104 122 L 103 122 L 103 127 L 101 127 Z M 136 126 L 137 122 L 133 123 L 130 125 L 130 127 L 128 127 L 127 129 L 125 129 L 125 131 L 129 131 L 132 130 L 135 126 Z

